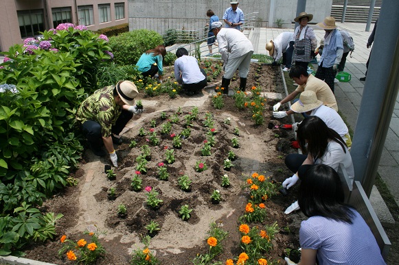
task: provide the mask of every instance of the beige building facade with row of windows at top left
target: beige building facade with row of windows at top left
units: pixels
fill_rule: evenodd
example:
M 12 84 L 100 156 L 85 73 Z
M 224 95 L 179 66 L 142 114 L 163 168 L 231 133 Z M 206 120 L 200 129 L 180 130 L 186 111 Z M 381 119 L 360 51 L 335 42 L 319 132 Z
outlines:
M 60 23 L 98 30 L 128 23 L 127 0 L 1 0 L 0 51 Z

